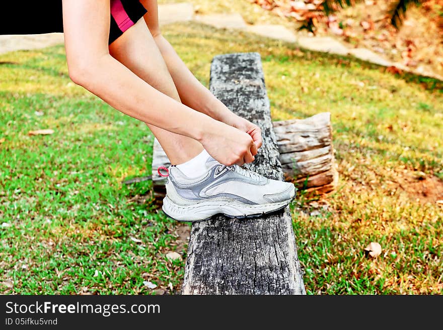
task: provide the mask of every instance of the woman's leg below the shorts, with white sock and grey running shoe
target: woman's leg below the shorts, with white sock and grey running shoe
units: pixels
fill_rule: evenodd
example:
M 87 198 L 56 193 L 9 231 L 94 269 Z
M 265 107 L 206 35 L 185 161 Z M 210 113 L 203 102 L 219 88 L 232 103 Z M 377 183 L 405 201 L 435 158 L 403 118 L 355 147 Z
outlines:
M 111 56 L 151 86 L 180 100 L 162 54 L 143 20 L 114 41 L 109 51 Z M 179 164 L 170 168 L 163 200 L 163 210 L 172 218 L 201 221 L 217 213 L 235 217 L 260 215 L 285 207 L 295 195 L 292 183 L 269 180 L 238 166 L 221 166 L 202 152 L 199 142 L 155 126 L 150 128 L 171 162 Z M 189 129 L 192 130 L 191 127 Z M 205 158 L 194 157 L 199 153 Z M 175 160 L 179 158 L 181 160 Z M 183 166 L 187 167 L 188 174 L 183 172 Z M 190 176 L 196 172 L 200 174 Z M 210 175 L 201 180 L 204 173 Z

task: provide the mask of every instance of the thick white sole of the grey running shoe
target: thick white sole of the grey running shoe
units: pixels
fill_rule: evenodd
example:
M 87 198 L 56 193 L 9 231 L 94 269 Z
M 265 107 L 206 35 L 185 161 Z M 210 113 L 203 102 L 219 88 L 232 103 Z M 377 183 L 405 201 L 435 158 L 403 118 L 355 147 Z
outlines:
M 229 218 L 236 218 L 236 219 L 257 218 L 257 217 L 268 215 L 268 214 L 278 212 L 278 211 L 284 209 L 287 205 L 290 204 L 290 202 L 293 199 L 295 199 L 295 196 L 287 201 L 283 201 L 283 202 L 279 202 L 279 203 L 270 203 L 270 204 L 265 204 L 265 205 L 249 205 L 249 204 L 243 204 L 243 203 L 236 201 L 238 203 L 238 206 L 240 206 L 240 207 L 241 206 L 249 207 L 250 209 L 261 207 L 261 208 L 267 208 L 267 209 L 263 210 L 263 211 L 252 212 L 249 214 L 246 214 L 248 212 L 239 212 L 237 214 L 230 214 L 230 213 L 223 212 L 223 211 L 211 213 L 211 211 L 209 210 L 209 212 L 211 214 L 206 214 L 208 216 L 206 216 L 204 218 L 196 218 L 196 217 L 198 217 L 197 216 L 198 215 L 198 208 L 200 208 L 200 209 L 203 208 L 203 210 L 205 210 L 204 213 L 207 213 L 208 209 L 205 209 L 205 207 L 210 207 L 210 205 L 205 205 L 203 203 L 197 203 L 194 205 L 187 205 L 187 206 L 177 205 L 173 201 L 171 201 L 171 199 L 169 199 L 168 196 L 166 196 L 165 199 L 163 200 L 162 211 L 163 211 L 163 213 L 165 213 L 166 216 L 168 216 L 176 221 L 191 222 L 191 223 L 207 221 L 216 215 L 225 215 Z M 232 203 L 230 203 L 229 205 L 225 205 L 225 206 L 227 206 L 227 207 L 229 206 L 230 208 L 235 208 L 235 207 L 233 207 Z M 223 206 L 219 205 L 218 207 L 223 207 Z M 178 213 L 181 213 L 180 216 L 177 216 L 175 214 L 173 215 L 174 209 L 177 210 Z M 189 213 L 188 213 L 189 215 L 186 214 L 186 211 L 189 211 Z

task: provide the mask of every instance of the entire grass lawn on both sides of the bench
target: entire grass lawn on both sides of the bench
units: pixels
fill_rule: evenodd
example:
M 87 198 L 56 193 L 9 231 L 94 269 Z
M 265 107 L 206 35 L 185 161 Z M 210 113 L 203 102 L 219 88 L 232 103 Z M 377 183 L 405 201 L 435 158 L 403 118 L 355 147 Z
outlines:
M 213 56 L 259 52 L 274 120 L 331 112 L 338 189 L 317 215 L 313 197 L 293 207 L 308 293 L 443 293 L 443 209 L 402 181 L 443 177 L 441 81 L 194 23 L 164 35 L 205 85 Z M 121 184 L 150 174 L 150 131 L 70 82 L 61 46 L 0 61 L 15 62 L 0 66 L 0 223 L 11 226 L 0 282 L 14 281 L 0 291 L 145 294 L 150 280 L 174 293 L 184 263 L 165 254 L 177 224 L 155 210 L 150 181 Z M 27 135 L 40 128 L 55 133 Z

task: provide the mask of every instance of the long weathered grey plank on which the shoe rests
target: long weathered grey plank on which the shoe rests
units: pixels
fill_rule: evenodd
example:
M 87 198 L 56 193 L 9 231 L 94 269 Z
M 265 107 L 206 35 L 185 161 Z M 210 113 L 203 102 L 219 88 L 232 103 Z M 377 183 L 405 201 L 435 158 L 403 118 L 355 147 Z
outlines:
M 249 168 L 283 179 L 258 53 L 214 57 L 210 90 L 263 131 Z M 183 294 L 306 294 L 289 207 L 255 219 L 215 216 L 193 224 Z

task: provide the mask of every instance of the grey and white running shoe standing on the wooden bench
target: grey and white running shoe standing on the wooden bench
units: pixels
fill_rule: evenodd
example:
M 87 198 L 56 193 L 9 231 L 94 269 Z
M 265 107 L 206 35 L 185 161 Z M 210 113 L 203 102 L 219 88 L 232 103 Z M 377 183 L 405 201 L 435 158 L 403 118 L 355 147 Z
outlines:
M 196 222 L 221 213 L 253 217 L 284 208 L 296 195 L 290 182 L 267 179 L 238 165 L 225 166 L 212 157 L 198 178 L 169 167 L 163 211 L 178 221 Z

